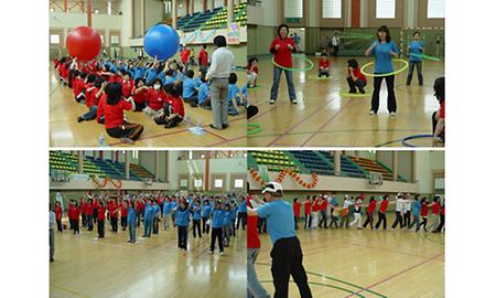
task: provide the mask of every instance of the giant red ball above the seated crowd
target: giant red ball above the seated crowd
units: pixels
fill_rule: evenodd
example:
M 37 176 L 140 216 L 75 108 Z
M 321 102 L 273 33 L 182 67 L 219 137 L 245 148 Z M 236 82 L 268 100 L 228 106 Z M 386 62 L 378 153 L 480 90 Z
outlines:
M 65 46 L 71 56 L 80 61 L 90 61 L 100 53 L 100 34 L 93 28 L 86 25 L 77 26 L 67 35 Z

